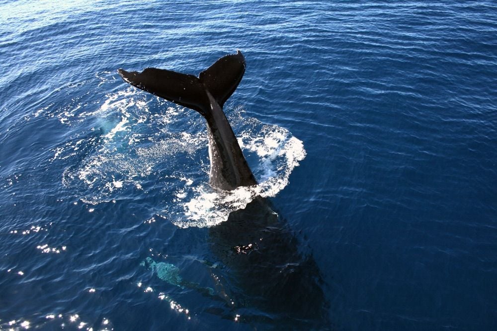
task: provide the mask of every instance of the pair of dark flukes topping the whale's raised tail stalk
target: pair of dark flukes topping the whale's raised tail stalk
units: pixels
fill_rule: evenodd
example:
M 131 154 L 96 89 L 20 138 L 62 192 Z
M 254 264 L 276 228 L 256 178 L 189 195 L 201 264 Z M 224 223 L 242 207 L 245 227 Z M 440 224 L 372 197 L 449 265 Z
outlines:
M 207 92 L 222 108 L 242 80 L 245 58 L 240 51 L 226 55 L 200 72 L 198 77 L 158 68 L 146 68 L 142 72 L 117 71 L 131 85 L 196 110 L 205 117 L 211 111 Z

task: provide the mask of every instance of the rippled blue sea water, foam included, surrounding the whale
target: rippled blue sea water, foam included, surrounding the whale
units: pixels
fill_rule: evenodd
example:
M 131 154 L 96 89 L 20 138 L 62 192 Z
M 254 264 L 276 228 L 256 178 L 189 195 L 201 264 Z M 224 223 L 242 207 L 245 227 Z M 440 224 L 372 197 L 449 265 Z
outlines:
M 323 280 L 307 324 L 213 254 L 203 119 L 116 72 L 237 49 L 225 112 Z M 0 72 L 0 329 L 497 329 L 494 1 L 3 0 Z

